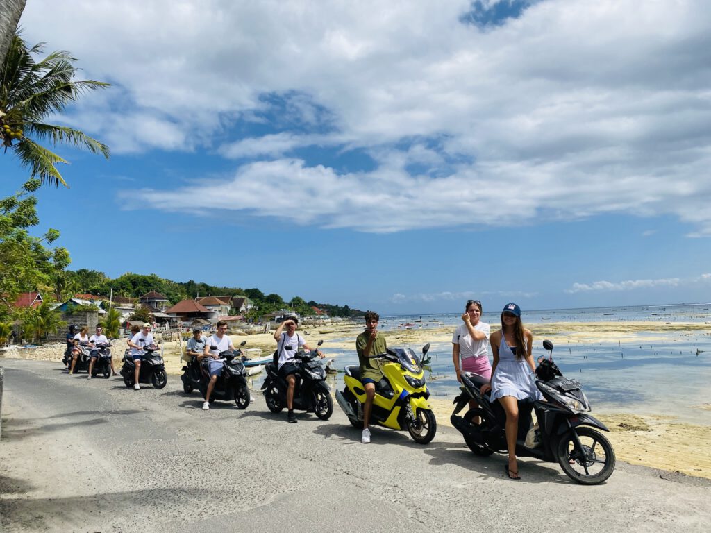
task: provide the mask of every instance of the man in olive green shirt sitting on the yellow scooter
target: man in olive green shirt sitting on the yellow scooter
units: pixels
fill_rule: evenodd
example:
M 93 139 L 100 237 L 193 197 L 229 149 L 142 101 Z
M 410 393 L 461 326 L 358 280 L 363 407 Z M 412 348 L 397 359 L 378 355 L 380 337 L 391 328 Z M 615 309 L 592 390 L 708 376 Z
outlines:
M 370 421 L 370 411 L 373 409 L 373 400 L 375 399 L 375 384 L 385 377 L 383 368 L 380 366 L 380 360 L 373 359 L 375 355 L 383 355 L 387 352 L 385 335 L 378 333 L 378 321 L 380 321 L 378 313 L 366 311 L 365 331 L 355 339 L 355 351 L 358 352 L 358 360 L 360 361 L 360 382 L 363 383 L 363 389 L 365 389 L 363 435 L 360 437 L 360 442 L 363 444 L 370 442 L 368 422 Z

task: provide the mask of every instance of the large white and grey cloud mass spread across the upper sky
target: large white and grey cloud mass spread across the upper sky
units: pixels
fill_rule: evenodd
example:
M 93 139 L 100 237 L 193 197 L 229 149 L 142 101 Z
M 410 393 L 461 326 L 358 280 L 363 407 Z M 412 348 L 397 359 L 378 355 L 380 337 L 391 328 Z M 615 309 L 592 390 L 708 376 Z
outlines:
M 198 202 L 363 231 L 506 210 L 673 215 L 711 236 L 706 0 L 35 0 L 23 26 L 114 82 L 68 117 L 114 152 L 238 161 L 218 184 L 145 191 L 156 208 L 205 188 Z M 229 137 L 264 121 L 276 131 Z M 375 168 L 295 153 L 314 147 Z M 284 210 L 277 184 L 319 210 Z

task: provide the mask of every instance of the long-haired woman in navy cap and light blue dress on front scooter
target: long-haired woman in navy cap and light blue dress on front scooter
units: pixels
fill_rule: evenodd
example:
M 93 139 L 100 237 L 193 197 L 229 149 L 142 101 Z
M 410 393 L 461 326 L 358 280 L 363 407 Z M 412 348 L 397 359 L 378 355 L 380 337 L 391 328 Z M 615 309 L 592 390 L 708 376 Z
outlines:
M 491 384 L 481 386 L 481 394 L 491 389 L 491 401 L 498 399 L 506 411 L 506 445 L 509 479 L 520 479 L 516 462 L 516 439 L 518 438 L 518 400 L 540 399 L 542 395 L 535 386 L 535 364 L 531 348 L 533 334 L 523 328 L 521 310 L 515 303 L 507 303 L 501 312 L 501 330 L 491 335 L 493 368 Z

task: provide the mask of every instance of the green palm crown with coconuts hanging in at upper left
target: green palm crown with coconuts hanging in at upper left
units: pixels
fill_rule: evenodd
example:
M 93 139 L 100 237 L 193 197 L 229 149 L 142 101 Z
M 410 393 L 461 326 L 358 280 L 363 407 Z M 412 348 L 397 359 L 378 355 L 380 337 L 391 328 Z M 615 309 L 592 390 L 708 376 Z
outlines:
M 21 164 L 30 168 L 33 178 L 42 183 L 67 185 L 56 167 L 57 163 L 67 161 L 37 141 L 71 144 L 106 158 L 109 149 L 82 131 L 45 124 L 43 120 L 62 112 L 84 92 L 109 84 L 73 81 L 76 59 L 67 52 L 53 52 L 36 62 L 33 55 L 40 54 L 43 47 L 40 43 L 28 49 L 16 34 L 4 62 L 0 63 L 0 144 L 6 151 L 14 151 Z

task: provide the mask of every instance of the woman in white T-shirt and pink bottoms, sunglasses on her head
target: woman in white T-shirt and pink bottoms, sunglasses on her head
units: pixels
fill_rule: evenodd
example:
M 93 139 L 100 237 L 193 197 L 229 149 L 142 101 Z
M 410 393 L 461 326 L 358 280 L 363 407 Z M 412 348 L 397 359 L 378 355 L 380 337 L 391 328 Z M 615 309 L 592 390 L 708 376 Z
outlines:
M 464 314 L 454 335 L 452 335 L 451 358 L 454 362 L 456 380 L 461 383 L 462 372 L 474 372 L 491 379 L 491 365 L 488 362 L 489 335 L 491 326 L 486 322 L 481 322 L 482 308 L 481 301 L 468 300 L 464 306 Z M 469 407 L 475 409 L 479 407 L 473 399 L 469 400 Z M 478 421 L 477 421 L 478 422 Z

